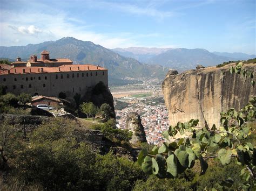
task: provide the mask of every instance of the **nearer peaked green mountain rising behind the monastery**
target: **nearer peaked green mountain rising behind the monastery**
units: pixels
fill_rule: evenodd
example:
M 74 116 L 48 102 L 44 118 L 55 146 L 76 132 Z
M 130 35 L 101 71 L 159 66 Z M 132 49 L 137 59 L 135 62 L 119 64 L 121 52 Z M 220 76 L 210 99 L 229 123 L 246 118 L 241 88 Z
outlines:
M 40 55 L 47 49 L 51 58 L 69 58 L 73 63 L 91 63 L 109 69 L 111 84 L 131 83 L 140 77 L 159 77 L 164 79 L 167 68 L 149 66 L 139 61 L 126 58 L 90 41 L 66 37 L 57 41 L 47 41 L 36 45 L 0 47 L 0 58 L 14 59 L 20 56 L 23 60 L 31 54 Z M 131 79 L 130 81 L 127 79 Z

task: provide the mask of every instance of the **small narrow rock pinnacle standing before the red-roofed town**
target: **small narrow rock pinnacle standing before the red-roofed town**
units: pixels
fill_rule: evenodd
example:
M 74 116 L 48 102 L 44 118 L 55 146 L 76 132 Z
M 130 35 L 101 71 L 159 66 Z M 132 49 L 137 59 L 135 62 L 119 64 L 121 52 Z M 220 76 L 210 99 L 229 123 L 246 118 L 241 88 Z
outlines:
M 131 112 L 127 116 L 125 128 L 132 131 L 131 144 L 136 145 L 138 143 L 147 142 L 142 119 L 140 119 L 140 116 L 136 112 Z

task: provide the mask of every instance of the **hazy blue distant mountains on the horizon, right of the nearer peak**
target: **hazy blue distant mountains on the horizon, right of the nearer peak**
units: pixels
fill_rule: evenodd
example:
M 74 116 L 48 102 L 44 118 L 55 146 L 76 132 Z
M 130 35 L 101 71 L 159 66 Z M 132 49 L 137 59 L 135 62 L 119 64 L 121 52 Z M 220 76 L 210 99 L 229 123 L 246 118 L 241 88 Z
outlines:
M 209 52 L 201 48 L 130 47 L 114 48 L 112 50 L 120 55 L 129 56 L 150 65 L 157 64 L 170 67 L 177 69 L 179 72 L 196 68 L 197 65 L 214 66 L 230 60 L 248 60 L 256 57 L 256 55 L 245 53 Z

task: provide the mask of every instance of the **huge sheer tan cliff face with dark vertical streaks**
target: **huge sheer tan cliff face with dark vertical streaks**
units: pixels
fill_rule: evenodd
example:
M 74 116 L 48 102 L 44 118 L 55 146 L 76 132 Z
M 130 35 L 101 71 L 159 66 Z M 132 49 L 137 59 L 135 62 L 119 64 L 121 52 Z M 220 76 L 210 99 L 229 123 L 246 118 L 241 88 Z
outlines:
M 165 104 L 169 110 L 170 125 L 199 119 L 211 128 L 220 126 L 220 112 L 230 108 L 241 109 L 255 96 L 256 88 L 248 77 L 231 74 L 229 68 L 208 67 L 189 70 L 182 74 L 167 75 L 162 83 Z M 255 63 L 244 64 L 244 68 L 255 70 Z M 255 81 L 254 74 L 254 81 Z

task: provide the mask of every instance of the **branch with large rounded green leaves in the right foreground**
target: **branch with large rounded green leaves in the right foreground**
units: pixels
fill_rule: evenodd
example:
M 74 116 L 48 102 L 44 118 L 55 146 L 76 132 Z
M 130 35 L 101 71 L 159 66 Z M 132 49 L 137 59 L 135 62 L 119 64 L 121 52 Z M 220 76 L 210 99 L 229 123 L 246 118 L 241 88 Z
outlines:
M 198 120 L 191 119 L 186 123 L 177 123 L 170 126 L 169 131 L 163 133 L 168 140 L 160 147 L 155 146 L 151 152 L 143 149 L 138 157 L 138 163 L 146 174 L 154 174 L 158 178 L 176 178 L 186 169 L 193 168 L 195 161 L 200 161 L 200 174 L 205 174 L 208 164 L 206 159 L 218 158 L 222 165 L 230 164 L 231 158 L 237 159 L 240 165 L 245 166 L 241 175 L 245 185 L 255 178 L 255 148 L 252 143 L 246 142 L 251 135 L 252 127 L 247 122 L 254 121 L 256 116 L 256 97 L 250 100 L 245 108 L 239 112 L 233 108 L 221 113 L 219 129 L 207 126 L 198 128 Z M 170 142 L 169 137 L 177 133 L 183 135 L 190 132 L 191 138 L 181 138 L 178 142 Z M 219 146 L 217 153 L 208 152 L 208 148 Z M 219 185 L 221 187 L 221 185 Z M 252 185 L 251 185 L 252 186 Z

